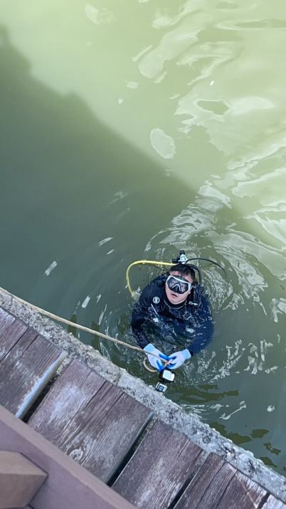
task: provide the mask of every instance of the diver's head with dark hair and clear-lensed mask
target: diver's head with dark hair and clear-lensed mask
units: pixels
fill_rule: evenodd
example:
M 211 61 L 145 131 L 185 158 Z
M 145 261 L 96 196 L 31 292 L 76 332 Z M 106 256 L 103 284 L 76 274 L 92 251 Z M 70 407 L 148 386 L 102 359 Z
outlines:
M 178 263 L 171 267 L 165 285 L 166 297 L 171 304 L 184 303 L 191 293 L 195 276 L 194 268 L 186 264 Z

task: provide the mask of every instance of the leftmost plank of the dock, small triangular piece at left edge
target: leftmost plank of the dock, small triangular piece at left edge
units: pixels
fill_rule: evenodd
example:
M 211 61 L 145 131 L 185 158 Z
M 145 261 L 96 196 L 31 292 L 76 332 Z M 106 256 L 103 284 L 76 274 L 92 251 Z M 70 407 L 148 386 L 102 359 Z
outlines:
M 0 361 L 16 345 L 27 329 L 28 325 L 0 308 Z

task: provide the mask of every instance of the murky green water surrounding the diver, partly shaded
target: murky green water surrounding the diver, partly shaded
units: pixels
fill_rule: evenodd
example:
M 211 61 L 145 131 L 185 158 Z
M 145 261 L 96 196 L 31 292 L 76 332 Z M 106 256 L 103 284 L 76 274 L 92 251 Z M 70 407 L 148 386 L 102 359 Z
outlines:
M 130 342 L 131 261 L 223 263 L 168 396 L 285 473 L 285 1 L 1 0 L 0 25 L 1 286 Z

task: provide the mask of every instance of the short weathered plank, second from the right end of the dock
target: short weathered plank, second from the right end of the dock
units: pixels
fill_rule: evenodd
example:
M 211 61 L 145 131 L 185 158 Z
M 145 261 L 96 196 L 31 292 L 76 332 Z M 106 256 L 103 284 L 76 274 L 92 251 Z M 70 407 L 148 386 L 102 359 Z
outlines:
M 237 472 L 223 493 L 217 509 L 257 509 L 267 494 L 259 484 Z

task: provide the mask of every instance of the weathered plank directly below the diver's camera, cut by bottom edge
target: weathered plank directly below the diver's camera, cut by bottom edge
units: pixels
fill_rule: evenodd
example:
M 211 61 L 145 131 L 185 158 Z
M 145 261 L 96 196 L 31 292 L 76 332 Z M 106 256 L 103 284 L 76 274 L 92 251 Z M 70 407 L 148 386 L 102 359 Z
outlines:
M 138 508 L 167 508 L 201 466 L 202 449 L 157 421 L 112 488 Z

